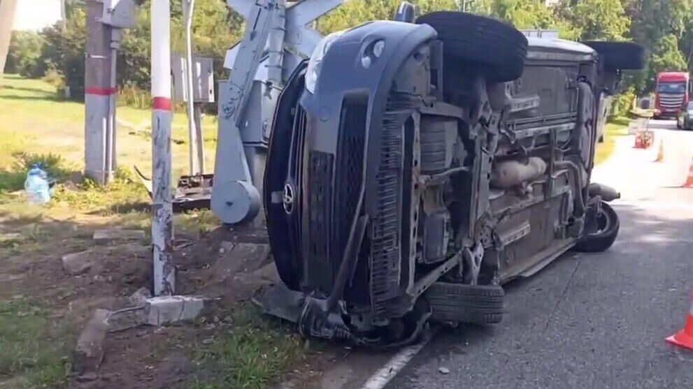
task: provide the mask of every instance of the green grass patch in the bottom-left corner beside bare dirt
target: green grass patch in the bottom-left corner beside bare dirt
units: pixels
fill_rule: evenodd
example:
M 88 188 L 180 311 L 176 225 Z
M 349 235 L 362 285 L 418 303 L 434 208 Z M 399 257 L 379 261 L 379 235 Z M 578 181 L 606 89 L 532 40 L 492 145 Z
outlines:
M 0 381 L 17 388 L 55 388 L 67 381 L 71 337 L 27 300 L 0 301 Z

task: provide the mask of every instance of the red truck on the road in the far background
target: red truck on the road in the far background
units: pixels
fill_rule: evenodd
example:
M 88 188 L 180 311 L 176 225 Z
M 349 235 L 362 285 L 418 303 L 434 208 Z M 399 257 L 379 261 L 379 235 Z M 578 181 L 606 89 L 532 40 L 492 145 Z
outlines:
M 689 73 L 658 73 L 655 85 L 655 119 L 676 117 L 688 105 L 692 91 Z

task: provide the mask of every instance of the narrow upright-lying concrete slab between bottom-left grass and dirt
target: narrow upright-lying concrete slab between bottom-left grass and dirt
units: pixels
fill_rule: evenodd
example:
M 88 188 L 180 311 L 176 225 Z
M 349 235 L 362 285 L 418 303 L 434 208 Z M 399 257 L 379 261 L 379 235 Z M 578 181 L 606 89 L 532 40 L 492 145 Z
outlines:
M 83 376 L 99 370 L 103 360 L 103 341 L 108 332 L 108 309 L 97 309 L 85 325 L 75 347 L 72 371 Z

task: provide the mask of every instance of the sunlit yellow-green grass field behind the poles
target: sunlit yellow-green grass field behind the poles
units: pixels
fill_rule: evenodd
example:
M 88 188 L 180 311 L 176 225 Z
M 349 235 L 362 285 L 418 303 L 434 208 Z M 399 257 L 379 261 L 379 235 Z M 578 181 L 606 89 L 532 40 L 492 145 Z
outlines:
M 27 80 L 18 75 L 5 75 L 0 85 L 0 170 L 15 162 L 16 152 L 59 154 L 68 165 L 83 168 L 84 117 L 82 103 L 62 101 L 55 87 L 43 80 Z M 120 107 L 117 117 L 149 131 L 151 111 Z M 204 117 L 206 166 L 213 170 L 217 124 L 215 117 Z M 143 172 L 152 170 L 151 140 L 127 126 L 118 126 L 116 134 L 117 163 Z M 185 112 L 173 115 L 171 147 L 173 175 L 187 173 L 187 117 Z

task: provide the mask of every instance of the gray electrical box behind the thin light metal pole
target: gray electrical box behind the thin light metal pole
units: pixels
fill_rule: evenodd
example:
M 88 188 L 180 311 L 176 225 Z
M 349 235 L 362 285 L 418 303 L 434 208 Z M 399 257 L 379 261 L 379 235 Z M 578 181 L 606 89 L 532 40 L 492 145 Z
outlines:
M 173 100 L 187 101 L 187 61 L 185 55 L 171 53 Z M 209 57 L 192 56 L 192 96 L 195 103 L 214 103 L 214 64 Z

